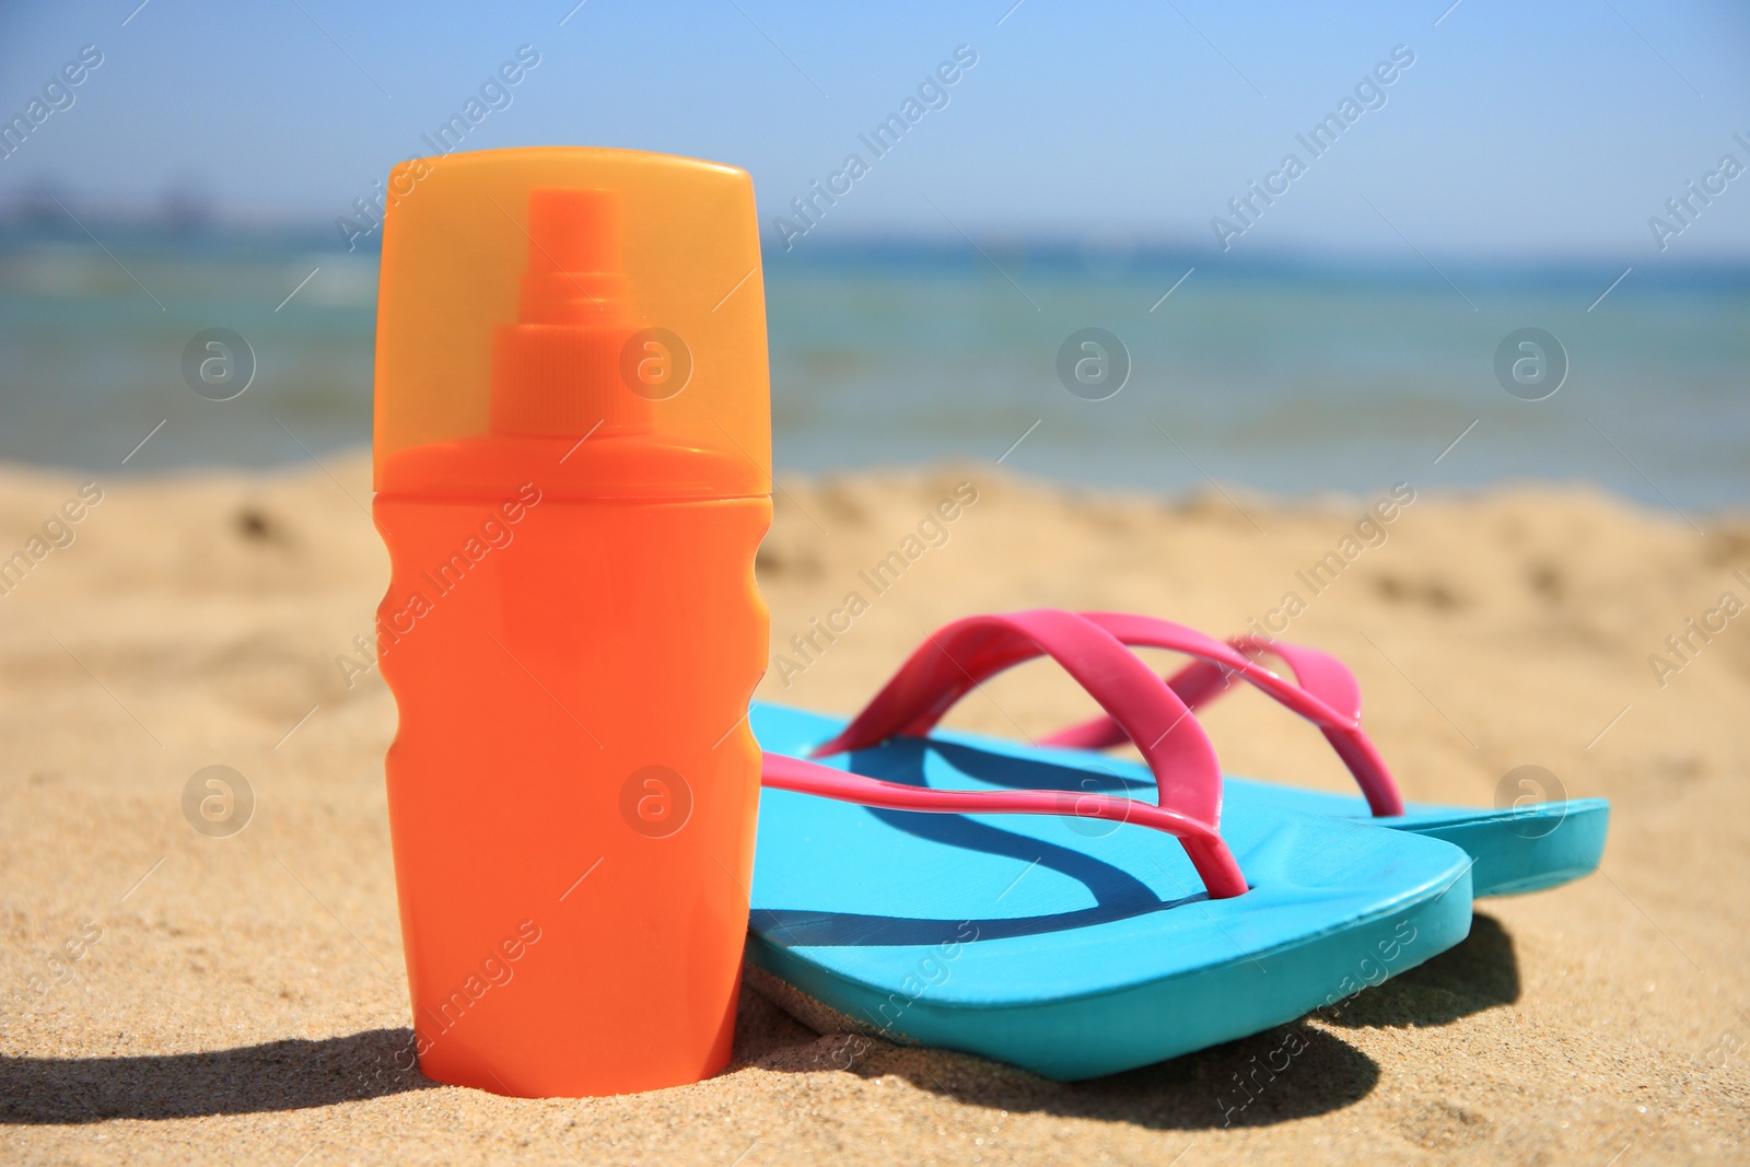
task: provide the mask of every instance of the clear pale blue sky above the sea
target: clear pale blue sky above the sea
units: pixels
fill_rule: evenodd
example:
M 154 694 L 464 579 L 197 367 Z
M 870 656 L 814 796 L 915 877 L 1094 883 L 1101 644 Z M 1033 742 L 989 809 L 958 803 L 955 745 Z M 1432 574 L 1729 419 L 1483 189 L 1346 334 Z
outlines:
M 1307 171 L 1228 240 L 1236 252 L 1750 257 L 1750 175 L 1662 254 L 1647 222 L 1722 154 L 1750 164 L 1732 138 L 1750 140 L 1745 5 L 1012 2 L 7 5 L 0 117 L 80 45 L 103 65 L 0 159 L 0 196 L 49 184 L 150 201 L 194 184 L 228 208 L 332 220 L 394 161 L 430 152 L 422 133 L 530 45 L 539 65 L 466 149 L 590 143 L 735 163 L 752 171 L 768 229 L 863 154 L 870 171 L 810 238 L 1213 248 L 1211 219 L 1293 150 Z M 957 45 L 976 65 L 875 159 L 858 135 Z M 1395 45 L 1414 65 L 1311 159 L 1295 135 Z

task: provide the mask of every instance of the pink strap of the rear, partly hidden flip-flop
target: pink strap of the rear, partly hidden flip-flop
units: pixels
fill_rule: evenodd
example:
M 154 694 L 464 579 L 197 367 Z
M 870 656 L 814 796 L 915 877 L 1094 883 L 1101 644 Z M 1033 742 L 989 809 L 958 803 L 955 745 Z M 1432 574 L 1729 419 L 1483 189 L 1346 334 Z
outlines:
M 1083 612 L 1124 644 L 1171 649 L 1195 656 L 1190 665 L 1167 677 L 1167 688 L 1180 695 L 1190 709 L 1200 709 L 1232 688 L 1230 677 L 1262 689 L 1295 714 L 1300 714 L 1323 731 L 1337 756 L 1354 775 L 1356 786 L 1367 796 L 1374 815 L 1404 814 L 1404 796 L 1386 768 L 1384 758 L 1362 730 L 1362 686 L 1354 674 L 1335 656 L 1318 649 L 1269 640 L 1265 637 L 1232 637 L 1227 642 L 1200 632 L 1150 616 L 1124 612 Z M 1269 653 L 1281 658 L 1298 684 L 1290 684 L 1256 661 Z M 1108 716 L 1059 730 L 1043 738 L 1045 745 L 1069 749 L 1106 749 L 1130 740 L 1124 726 Z

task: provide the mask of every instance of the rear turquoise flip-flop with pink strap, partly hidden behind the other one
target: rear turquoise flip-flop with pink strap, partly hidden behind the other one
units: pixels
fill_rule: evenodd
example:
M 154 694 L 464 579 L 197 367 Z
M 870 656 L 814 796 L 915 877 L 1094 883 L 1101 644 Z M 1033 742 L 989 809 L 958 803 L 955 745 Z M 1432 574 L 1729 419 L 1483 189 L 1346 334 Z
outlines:
M 1232 689 L 1234 677 L 1276 698 L 1325 731 L 1362 787 L 1362 796 L 1356 798 L 1227 779 L 1230 798 L 1244 791 L 1283 810 L 1368 819 L 1374 826 L 1446 840 L 1477 861 L 1470 871 L 1477 898 L 1558 887 L 1591 873 L 1603 857 L 1605 836 L 1610 831 L 1610 803 L 1603 798 L 1517 800 L 1502 810 L 1404 803 L 1379 751 L 1362 731 L 1362 689 L 1335 656 L 1265 637 L 1232 637 L 1222 642 L 1183 625 L 1146 616 L 1120 612 L 1082 612 L 1082 616 L 1124 644 L 1171 649 L 1195 658 L 1167 677 L 1167 688 L 1192 710 Z M 1260 665 L 1256 658 L 1265 653 L 1279 658 L 1293 681 Z M 1085 751 L 1108 749 L 1127 740 L 1116 721 L 1101 716 L 1041 738 L 1040 744 L 1069 751 L 1060 754 L 1069 765 L 1085 765 L 1088 758 Z M 1134 786 L 1144 780 L 1148 772 L 1125 763 L 1125 777 Z

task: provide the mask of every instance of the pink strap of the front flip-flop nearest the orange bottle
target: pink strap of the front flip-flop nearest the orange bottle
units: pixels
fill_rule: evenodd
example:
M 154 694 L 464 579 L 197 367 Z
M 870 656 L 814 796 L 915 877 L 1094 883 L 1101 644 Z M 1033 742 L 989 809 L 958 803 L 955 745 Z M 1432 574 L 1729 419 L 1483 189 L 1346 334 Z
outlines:
M 1057 609 L 971 616 L 934 633 L 816 756 L 859 751 L 894 735 L 926 737 L 980 681 L 1050 656 L 1085 688 L 1155 775 L 1158 805 L 1071 791 L 942 791 L 766 756 L 763 782 L 889 810 L 940 814 L 1052 814 L 1136 822 L 1180 840 L 1213 899 L 1239 896 L 1246 880 L 1222 840 L 1222 770 L 1185 702 L 1097 623 Z

